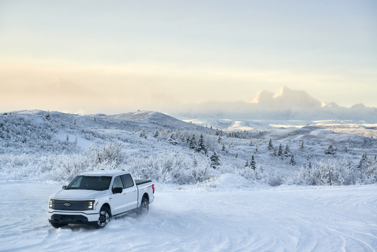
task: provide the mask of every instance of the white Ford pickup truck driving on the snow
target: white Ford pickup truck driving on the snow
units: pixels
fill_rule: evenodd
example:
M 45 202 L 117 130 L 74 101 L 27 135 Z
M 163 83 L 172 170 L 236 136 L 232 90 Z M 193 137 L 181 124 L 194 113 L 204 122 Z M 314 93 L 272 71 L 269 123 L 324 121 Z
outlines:
M 55 228 L 85 223 L 104 227 L 114 215 L 147 214 L 154 193 L 152 181 L 135 180 L 126 171 L 85 172 L 50 196 L 48 220 Z

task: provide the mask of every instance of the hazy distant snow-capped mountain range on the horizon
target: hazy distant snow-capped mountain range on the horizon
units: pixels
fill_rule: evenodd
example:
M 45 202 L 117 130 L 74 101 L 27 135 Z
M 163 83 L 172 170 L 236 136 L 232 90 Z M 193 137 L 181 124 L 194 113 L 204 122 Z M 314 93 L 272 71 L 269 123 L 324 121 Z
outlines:
M 320 102 L 305 91 L 282 87 L 277 92 L 262 90 L 249 101 L 204 102 L 168 109 L 167 114 L 182 120 L 190 118 L 253 120 L 352 120 L 377 123 L 377 108 L 355 104 L 351 108 L 334 102 Z

